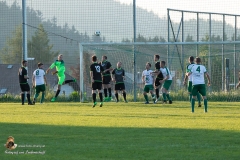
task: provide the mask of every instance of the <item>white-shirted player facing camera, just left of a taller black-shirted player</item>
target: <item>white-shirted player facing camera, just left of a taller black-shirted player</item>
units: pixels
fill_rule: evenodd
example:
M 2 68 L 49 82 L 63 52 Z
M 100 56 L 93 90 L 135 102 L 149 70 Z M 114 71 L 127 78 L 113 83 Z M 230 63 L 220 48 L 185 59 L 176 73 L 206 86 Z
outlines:
M 147 93 L 149 92 L 151 93 L 153 103 L 155 103 L 155 99 L 156 99 L 155 95 L 153 94 L 154 75 L 152 73 L 153 71 L 150 70 L 150 68 L 151 68 L 151 63 L 147 62 L 146 70 L 142 72 L 142 82 L 145 84 L 144 92 L 143 92 L 144 98 L 146 100 L 145 104 L 149 104 L 148 96 L 147 96 Z

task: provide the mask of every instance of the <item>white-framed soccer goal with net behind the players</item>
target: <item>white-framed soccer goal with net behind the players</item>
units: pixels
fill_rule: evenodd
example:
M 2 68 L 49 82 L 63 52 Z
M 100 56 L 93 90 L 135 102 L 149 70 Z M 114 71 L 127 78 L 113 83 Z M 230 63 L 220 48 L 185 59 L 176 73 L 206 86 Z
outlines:
M 224 46 L 224 50 L 222 50 Z M 117 62 L 122 62 L 126 72 L 125 86 L 128 95 L 134 101 L 142 96 L 143 83 L 142 71 L 146 62 L 152 64 L 155 70 L 154 55 L 159 54 L 161 61 L 166 61 L 167 67 L 173 76 L 171 92 L 186 90 L 182 85 L 189 56 L 199 56 L 202 64 L 206 66 L 212 85 L 208 91 L 232 91 L 238 82 L 238 65 L 240 41 L 224 42 L 136 42 L 136 43 L 81 43 L 80 47 L 80 100 L 91 98 L 90 70 L 91 56 L 96 55 L 98 62 L 103 55 L 115 68 Z M 198 49 L 198 54 L 196 50 Z M 225 65 L 228 60 L 229 65 Z M 114 90 L 114 84 L 112 90 Z M 187 90 L 186 90 L 187 92 Z M 113 93 L 113 92 L 112 92 Z

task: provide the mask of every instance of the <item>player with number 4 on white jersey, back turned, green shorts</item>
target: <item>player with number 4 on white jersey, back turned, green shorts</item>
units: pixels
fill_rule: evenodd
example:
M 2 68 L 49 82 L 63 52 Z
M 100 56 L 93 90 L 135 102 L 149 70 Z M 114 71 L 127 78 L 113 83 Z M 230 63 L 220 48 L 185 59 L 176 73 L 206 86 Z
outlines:
M 204 75 L 208 79 L 208 86 L 210 86 L 210 76 L 207 73 L 205 66 L 201 65 L 201 59 L 197 57 L 195 59 L 196 65 L 194 65 L 187 76 L 192 75 L 192 112 L 194 112 L 194 105 L 197 93 L 199 92 L 204 101 L 204 111 L 207 112 L 207 96 L 206 96 L 206 87 L 205 87 L 205 80 Z

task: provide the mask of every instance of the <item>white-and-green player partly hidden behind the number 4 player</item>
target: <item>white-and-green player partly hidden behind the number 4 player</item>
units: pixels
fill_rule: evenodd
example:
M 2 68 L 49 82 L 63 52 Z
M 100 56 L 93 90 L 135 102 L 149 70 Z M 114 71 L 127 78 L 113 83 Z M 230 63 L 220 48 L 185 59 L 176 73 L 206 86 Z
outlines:
M 190 56 L 188 61 L 189 61 L 189 64 L 186 67 L 186 73 L 190 72 L 192 67 L 195 65 L 193 56 Z M 183 85 L 186 85 L 187 80 L 188 80 L 189 101 L 191 103 L 192 102 L 192 75 L 190 76 L 185 75 Z M 201 107 L 201 96 L 199 93 L 197 93 L 197 99 L 198 99 L 198 107 Z

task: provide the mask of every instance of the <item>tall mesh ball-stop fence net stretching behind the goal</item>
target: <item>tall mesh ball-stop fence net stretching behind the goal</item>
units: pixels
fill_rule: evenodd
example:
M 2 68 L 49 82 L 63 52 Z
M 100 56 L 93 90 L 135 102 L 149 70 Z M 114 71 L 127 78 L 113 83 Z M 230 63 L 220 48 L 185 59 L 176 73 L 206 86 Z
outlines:
M 174 75 L 172 92 L 184 90 L 181 84 L 187 58 L 191 55 L 200 56 L 210 71 L 214 85 L 209 89 L 209 93 L 220 93 L 228 88 L 225 83 L 225 79 L 227 79 L 225 77 L 225 58 L 230 60 L 229 90 L 233 90 L 238 81 L 240 46 L 237 43 L 235 45 L 233 43 L 224 45 L 219 43 L 211 45 L 135 45 L 135 60 L 133 46 L 123 45 L 132 42 L 239 41 L 238 15 L 223 16 L 166 9 L 165 16 L 159 16 L 153 11 L 139 7 L 138 1 L 136 1 L 134 26 L 132 0 L 129 0 L 130 3 L 127 4 L 121 3 L 119 0 L 25 1 L 27 6 L 26 23 L 23 23 L 22 18 L 22 0 L 0 1 L 0 69 L 5 77 L 0 82 L 0 96 L 13 95 L 13 97 L 10 96 L 9 101 L 13 101 L 14 97 L 19 98 L 20 93 L 17 72 L 23 57 L 23 25 L 27 28 L 27 56 L 34 58 L 34 60 L 28 61 L 30 79 L 32 72 L 37 68 L 37 62 L 42 62 L 44 69 L 47 69 L 57 59 L 57 55 L 63 54 L 66 79 L 76 78 L 78 80 L 77 83 L 63 86 L 60 93 L 63 100 L 79 101 L 79 43 L 83 44 L 84 62 L 86 63 L 84 64 L 86 97 L 89 97 L 90 94 L 88 65 L 93 54 L 96 54 L 98 58 L 107 55 L 113 66 L 117 61 L 123 61 L 128 77 L 127 91 L 131 94 L 134 92 L 137 92 L 137 95 L 141 94 L 143 87 L 140 80 L 141 73 L 147 61 L 152 63 L 153 69 L 154 54 L 160 54 L 161 60 L 167 62 Z M 161 6 L 162 3 L 156 1 L 154 6 Z M 95 36 L 95 31 L 100 31 L 100 36 Z M 84 45 L 86 43 L 109 43 L 109 45 Z M 110 45 L 111 43 L 123 44 Z M 89 57 L 85 55 L 89 55 Z M 135 72 L 133 72 L 134 61 Z M 133 81 L 134 74 L 135 81 Z M 56 91 L 58 79 L 50 74 L 47 75 L 47 79 L 49 81 L 47 98 L 50 99 Z M 31 85 L 31 80 L 29 83 Z M 133 87 L 134 83 L 136 83 L 136 88 Z M 230 94 L 234 95 L 235 93 L 231 92 Z M 178 95 L 182 95 L 182 93 L 177 93 L 176 96 Z

